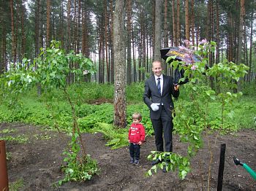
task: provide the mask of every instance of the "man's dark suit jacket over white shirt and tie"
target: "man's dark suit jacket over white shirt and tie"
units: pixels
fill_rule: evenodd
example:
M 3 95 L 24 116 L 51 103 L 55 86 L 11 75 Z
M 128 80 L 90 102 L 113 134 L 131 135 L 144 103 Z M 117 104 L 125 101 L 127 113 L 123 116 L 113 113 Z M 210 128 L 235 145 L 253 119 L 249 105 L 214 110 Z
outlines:
M 173 77 L 163 74 L 163 86 L 162 95 L 157 90 L 157 84 L 154 75 L 148 78 L 145 82 L 145 92 L 143 95 L 143 101 L 150 109 L 150 117 L 154 120 L 159 120 L 162 106 L 159 106 L 159 110 L 154 112 L 151 109 L 151 104 L 160 103 L 163 104 L 167 114 L 172 117 L 172 111 L 174 109 L 173 97 L 178 98 L 179 91 L 174 90 Z

